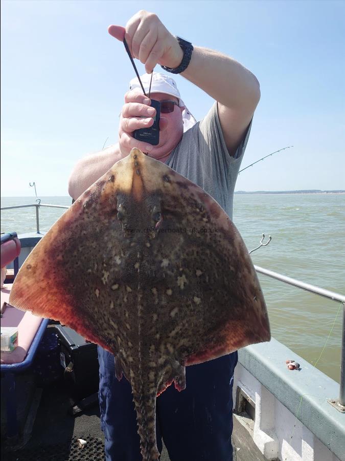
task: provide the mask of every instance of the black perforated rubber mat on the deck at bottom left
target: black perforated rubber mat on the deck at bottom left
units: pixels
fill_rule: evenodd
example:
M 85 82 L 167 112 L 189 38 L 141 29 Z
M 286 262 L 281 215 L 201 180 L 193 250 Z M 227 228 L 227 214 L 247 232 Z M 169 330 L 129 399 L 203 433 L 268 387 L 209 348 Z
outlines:
M 5 455 L 4 461 L 104 461 L 104 444 L 99 438 L 82 437 L 86 445 L 80 448 L 74 437 L 70 443 L 18 450 Z

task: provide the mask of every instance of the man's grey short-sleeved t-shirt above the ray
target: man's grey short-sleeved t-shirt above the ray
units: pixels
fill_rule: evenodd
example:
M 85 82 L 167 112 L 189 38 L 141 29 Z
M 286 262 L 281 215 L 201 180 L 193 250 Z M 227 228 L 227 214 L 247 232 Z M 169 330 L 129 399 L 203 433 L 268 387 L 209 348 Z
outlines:
M 217 102 L 209 113 L 190 130 L 165 162 L 210 194 L 233 218 L 235 183 L 245 151 L 251 122 L 238 149 L 229 155 L 218 117 Z

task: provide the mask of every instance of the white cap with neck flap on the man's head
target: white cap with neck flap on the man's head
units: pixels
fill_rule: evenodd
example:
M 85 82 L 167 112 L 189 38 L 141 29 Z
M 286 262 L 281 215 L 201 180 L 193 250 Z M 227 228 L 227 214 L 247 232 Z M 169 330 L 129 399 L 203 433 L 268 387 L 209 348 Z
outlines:
M 151 74 L 143 74 L 140 77 L 145 93 L 148 95 L 151 81 Z M 132 78 L 129 82 L 129 89 L 135 90 L 139 89 L 143 91 L 139 79 L 137 77 Z M 186 132 L 193 127 L 196 123 L 196 119 L 191 114 L 191 112 L 186 107 L 186 104 L 182 101 L 180 92 L 177 89 L 176 82 L 169 75 L 161 74 L 159 72 L 153 72 L 152 82 L 151 82 L 151 93 L 165 93 L 171 96 L 175 96 L 179 100 L 179 106 L 185 107 L 182 111 L 182 120 L 183 120 L 183 132 Z

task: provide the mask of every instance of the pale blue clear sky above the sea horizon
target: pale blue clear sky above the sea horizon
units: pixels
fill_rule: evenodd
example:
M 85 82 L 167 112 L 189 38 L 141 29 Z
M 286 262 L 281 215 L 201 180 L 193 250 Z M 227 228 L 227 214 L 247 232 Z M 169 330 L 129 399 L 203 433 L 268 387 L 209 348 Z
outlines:
M 1 11 L 1 196 L 68 195 L 77 160 L 115 143 L 134 76 L 107 26 L 140 9 L 259 79 L 236 190 L 345 189 L 345 2 L 16 1 Z M 144 66 L 137 61 L 140 73 Z M 160 68 L 156 68 L 160 70 Z M 197 119 L 212 99 L 176 77 Z

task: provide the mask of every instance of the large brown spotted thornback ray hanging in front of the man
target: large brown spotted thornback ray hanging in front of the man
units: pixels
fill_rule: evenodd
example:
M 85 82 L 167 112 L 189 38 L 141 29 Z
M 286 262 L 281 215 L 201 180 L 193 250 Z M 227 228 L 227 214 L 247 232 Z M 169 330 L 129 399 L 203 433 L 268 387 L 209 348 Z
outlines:
M 200 187 L 133 149 L 62 215 L 21 266 L 10 303 L 112 352 L 130 382 L 144 461 L 156 395 L 185 366 L 270 340 L 233 222 Z M 187 383 L 188 386 L 188 383 Z

